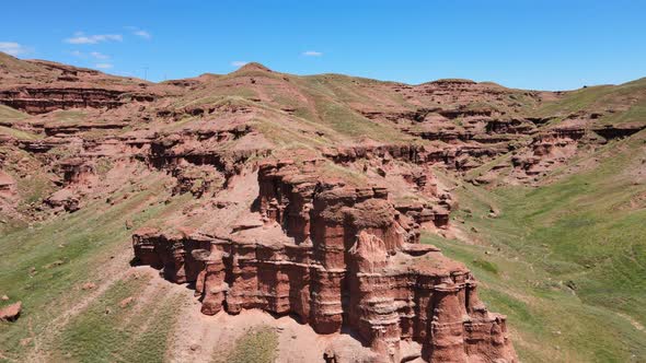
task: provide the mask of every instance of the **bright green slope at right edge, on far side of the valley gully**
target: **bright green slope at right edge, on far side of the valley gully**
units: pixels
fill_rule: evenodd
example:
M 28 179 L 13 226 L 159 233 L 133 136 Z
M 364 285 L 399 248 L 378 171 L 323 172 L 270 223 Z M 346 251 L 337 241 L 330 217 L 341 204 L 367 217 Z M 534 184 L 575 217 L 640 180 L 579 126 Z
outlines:
M 646 324 L 646 218 L 638 196 L 646 187 L 630 176 L 632 156 L 642 140 L 613 144 L 612 155 L 598 167 L 541 188 L 504 188 L 495 191 L 501 204 L 497 224 L 520 226 L 523 253 L 530 253 L 549 271 L 573 279 L 589 303 L 619 309 Z M 623 152 L 619 152 L 623 148 Z M 635 204 L 636 203 L 636 204 Z M 642 203 L 639 206 L 639 203 Z M 537 246 L 546 246 L 541 250 Z M 595 298 L 588 284 L 602 283 L 622 301 Z M 632 295 L 632 297 L 630 297 Z

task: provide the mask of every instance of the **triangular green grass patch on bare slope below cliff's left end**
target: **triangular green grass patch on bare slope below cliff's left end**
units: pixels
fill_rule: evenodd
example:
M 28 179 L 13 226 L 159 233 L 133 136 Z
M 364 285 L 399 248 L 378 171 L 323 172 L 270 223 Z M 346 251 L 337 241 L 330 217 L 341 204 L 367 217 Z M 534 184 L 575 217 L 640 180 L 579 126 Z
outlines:
M 163 291 L 142 296 L 149 280 L 130 277 L 113 284 L 59 333 L 53 360 L 162 362 L 180 297 Z

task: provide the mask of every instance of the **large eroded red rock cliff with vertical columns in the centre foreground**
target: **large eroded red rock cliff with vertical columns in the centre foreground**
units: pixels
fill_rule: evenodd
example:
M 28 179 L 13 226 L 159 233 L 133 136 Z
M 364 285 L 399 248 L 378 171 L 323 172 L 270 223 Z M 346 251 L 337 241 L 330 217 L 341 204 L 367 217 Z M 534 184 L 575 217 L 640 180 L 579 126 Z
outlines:
M 387 188 L 325 176 L 323 163 L 262 163 L 250 206 L 259 223 L 221 235 L 140 230 L 136 258 L 194 283 L 204 314 L 261 308 L 320 333 L 351 329 L 373 361 L 516 362 L 506 318 L 480 302 L 470 271 L 419 244 L 419 225 Z

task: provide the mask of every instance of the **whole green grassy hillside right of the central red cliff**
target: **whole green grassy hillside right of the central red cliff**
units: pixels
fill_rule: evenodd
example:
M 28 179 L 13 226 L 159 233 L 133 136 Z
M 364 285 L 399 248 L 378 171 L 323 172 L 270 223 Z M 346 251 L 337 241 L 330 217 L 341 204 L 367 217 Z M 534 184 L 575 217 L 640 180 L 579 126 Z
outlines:
M 645 361 L 645 145 L 644 131 L 613 141 L 538 188 L 463 184 L 455 224 L 476 244 L 427 236 L 484 282 L 523 361 Z

